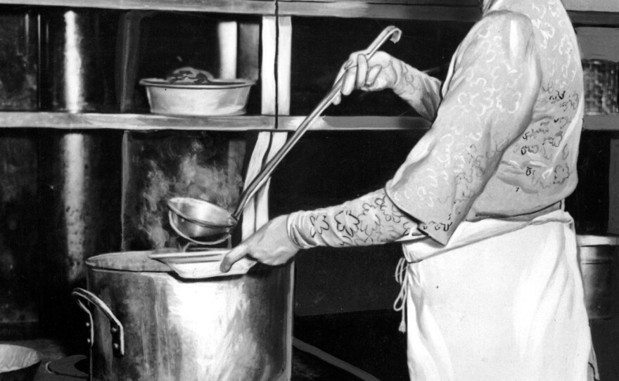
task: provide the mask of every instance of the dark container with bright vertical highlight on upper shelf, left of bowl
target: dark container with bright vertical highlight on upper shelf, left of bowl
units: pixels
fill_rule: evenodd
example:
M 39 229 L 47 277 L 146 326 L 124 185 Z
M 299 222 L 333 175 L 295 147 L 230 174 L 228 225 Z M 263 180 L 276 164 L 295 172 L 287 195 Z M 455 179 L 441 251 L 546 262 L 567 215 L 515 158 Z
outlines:
M 41 107 L 115 111 L 117 15 L 58 8 L 42 13 Z

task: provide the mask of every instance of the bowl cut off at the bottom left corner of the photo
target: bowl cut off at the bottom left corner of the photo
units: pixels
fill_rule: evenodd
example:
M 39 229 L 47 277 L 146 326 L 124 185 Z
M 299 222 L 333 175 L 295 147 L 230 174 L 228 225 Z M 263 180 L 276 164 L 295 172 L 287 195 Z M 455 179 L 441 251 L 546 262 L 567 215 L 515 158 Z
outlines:
M 0 344 L 0 381 L 32 381 L 41 365 L 38 351 L 20 345 Z

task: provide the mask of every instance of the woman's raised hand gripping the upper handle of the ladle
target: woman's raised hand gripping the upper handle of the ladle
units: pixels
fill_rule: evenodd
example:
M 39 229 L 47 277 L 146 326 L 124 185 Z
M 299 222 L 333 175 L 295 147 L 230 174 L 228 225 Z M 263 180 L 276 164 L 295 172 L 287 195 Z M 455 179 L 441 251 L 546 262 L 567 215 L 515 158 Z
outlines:
M 379 91 L 393 89 L 402 76 L 400 61 L 384 51 L 377 51 L 369 60 L 364 51 L 352 53 L 342 65 L 336 83 L 340 77 L 344 77 L 342 91 L 333 99 L 333 104 L 338 105 L 342 96 L 347 96 L 353 90 Z

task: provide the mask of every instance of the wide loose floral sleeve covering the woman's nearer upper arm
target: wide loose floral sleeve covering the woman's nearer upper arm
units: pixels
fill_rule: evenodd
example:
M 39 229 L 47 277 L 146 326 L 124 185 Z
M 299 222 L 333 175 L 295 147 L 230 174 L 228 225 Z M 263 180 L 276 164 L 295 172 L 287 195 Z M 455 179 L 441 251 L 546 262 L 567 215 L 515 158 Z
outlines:
M 493 12 L 452 60 L 432 129 L 387 184 L 419 230 L 446 244 L 532 119 L 540 63 L 530 19 Z

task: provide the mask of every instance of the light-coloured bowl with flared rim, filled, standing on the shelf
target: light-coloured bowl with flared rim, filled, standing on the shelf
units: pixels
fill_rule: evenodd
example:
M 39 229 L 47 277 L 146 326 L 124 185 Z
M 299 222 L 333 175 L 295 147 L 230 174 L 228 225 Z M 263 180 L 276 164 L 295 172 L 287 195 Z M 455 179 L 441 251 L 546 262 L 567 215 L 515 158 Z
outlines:
M 146 78 L 146 96 L 153 114 L 162 115 L 241 115 L 251 86 L 248 79 L 215 79 L 207 84 L 170 83 L 165 79 Z

